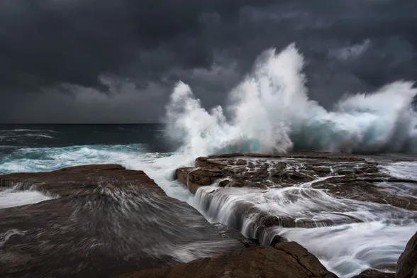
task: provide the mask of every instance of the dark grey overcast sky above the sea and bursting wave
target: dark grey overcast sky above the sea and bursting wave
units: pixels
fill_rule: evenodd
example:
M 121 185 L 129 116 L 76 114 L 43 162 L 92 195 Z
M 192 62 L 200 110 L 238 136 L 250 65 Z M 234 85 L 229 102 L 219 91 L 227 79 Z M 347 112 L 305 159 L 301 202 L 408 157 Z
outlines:
M 417 80 L 416 0 L 1 0 L 0 123 L 156 123 L 174 82 L 204 106 L 266 48 L 312 99 Z

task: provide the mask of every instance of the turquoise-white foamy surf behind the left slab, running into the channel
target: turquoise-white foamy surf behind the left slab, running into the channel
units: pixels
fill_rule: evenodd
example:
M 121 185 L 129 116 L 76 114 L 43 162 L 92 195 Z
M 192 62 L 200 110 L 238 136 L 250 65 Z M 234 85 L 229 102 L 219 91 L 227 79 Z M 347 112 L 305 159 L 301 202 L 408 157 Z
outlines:
M 0 173 L 45 172 L 69 166 L 116 163 L 145 171 L 168 196 L 185 201 L 190 193 L 174 180 L 174 172 L 178 166 L 189 165 L 193 160 L 187 155 L 145 152 L 142 144 L 25 148 L 0 157 Z

